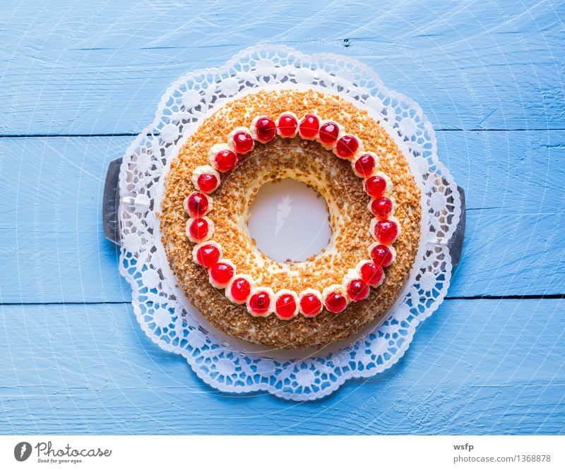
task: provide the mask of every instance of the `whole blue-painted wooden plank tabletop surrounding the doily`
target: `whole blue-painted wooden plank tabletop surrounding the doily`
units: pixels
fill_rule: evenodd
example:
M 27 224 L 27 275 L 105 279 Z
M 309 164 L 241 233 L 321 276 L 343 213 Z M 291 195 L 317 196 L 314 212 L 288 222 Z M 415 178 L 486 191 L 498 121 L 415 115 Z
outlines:
M 564 433 L 564 2 L 307 3 L 0 3 L 0 433 Z M 222 394 L 152 344 L 102 235 L 107 165 L 169 83 L 257 42 L 374 68 L 468 198 L 408 354 L 313 403 Z

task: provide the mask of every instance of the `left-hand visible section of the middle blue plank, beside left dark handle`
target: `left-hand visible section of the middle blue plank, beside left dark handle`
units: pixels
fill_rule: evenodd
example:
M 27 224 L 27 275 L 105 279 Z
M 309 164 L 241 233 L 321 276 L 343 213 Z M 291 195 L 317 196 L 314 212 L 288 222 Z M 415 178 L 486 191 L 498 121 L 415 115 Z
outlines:
M 102 235 L 107 164 L 129 140 L 0 140 L 3 302 L 130 299 L 117 248 Z

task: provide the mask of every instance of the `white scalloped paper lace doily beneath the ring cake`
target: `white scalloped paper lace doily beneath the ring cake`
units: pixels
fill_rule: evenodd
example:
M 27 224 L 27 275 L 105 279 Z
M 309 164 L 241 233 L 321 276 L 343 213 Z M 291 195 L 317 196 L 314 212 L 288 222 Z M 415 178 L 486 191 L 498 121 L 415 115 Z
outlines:
M 381 119 L 417 176 L 425 216 L 412 277 L 384 323 L 369 325 L 332 348 L 277 357 L 226 337 L 189 305 L 174 287 L 155 215 L 169 163 L 198 124 L 234 97 L 273 88 L 331 92 Z M 162 97 L 153 124 L 126 151 L 119 192 L 120 272 L 131 284 L 141 328 L 224 392 L 266 390 L 285 399 L 311 400 L 337 390 L 347 379 L 380 373 L 403 356 L 417 325 L 444 299 L 451 279 L 448 248 L 460 217 L 460 199 L 451 174 L 437 158 L 432 126 L 415 102 L 388 90 L 373 71 L 344 56 L 258 46 L 225 66 L 180 78 Z

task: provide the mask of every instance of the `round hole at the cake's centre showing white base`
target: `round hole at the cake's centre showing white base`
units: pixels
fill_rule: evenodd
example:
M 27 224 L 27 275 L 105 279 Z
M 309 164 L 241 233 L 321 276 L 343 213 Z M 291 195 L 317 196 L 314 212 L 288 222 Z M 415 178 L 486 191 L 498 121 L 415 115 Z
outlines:
M 251 203 L 249 234 L 279 263 L 304 261 L 328 246 L 328 205 L 306 184 L 285 178 L 261 186 Z

